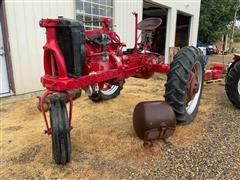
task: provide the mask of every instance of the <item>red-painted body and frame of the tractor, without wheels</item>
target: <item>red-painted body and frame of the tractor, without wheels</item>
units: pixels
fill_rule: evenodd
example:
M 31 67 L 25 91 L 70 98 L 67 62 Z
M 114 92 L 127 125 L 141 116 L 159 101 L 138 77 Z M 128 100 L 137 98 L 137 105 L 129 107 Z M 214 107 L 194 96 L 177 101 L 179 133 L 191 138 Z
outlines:
M 170 66 L 164 64 L 164 59 L 156 54 L 147 53 L 147 45 L 144 52 L 137 51 L 137 30 L 138 30 L 138 14 L 135 15 L 135 45 L 134 52 L 131 54 L 123 54 L 125 44 L 121 42 L 119 36 L 109 29 L 109 19 L 101 20 L 102 28 L 99 30 L 86 31 L 85 36 L 88 38 L 92 35 L 106 34 L 110 37 L 111 43 L 104 50 L 97 44 L 86 41 L 85 44 L 85 65 L 82 76 L 79 78 L 70 78 L 67 75 L 67 69 L 64 56 L 59 48 L 56 38 L 56 28 L 58 19 L 42 19 L 40 26 L 46 28 L 46 44 L 44 45 L 44 70 L 45 75 L 41 77 L 41 83 L 49 90 L 42 97 L 41 103 L 45 101 L 52 92 L 65 93 L 73 89 L 82 89 L 89 85 L 99 84 L 99 88 L 104 88 L 103 83 L 117 84 L 118 82 L 128 78 L 150 78 L 154 72 L 168 73 Z M 107 53 L 108 59 L 103 61 L 103 51 Z M 56 67 L 52 64 L 56 63 Z M 56 73 L 58 72 L 58 74 Z M 69 118 L 72 116 L 72 100 L 70 99 Z M 43 112 L 47 133 L 51 133 L 48 126 L 46 115 Z M 70 120 L 71 126 L 71 120 Z

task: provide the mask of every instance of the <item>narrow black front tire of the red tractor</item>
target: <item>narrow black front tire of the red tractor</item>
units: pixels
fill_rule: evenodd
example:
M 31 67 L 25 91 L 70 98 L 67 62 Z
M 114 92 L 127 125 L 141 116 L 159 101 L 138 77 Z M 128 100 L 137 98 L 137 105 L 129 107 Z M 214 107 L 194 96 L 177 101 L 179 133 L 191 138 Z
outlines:
M 53 159 L 56 164 L 65 165 L 71 160 L 71 137 L 67 108 L 62 97 L 50 98 L 50 122 Z

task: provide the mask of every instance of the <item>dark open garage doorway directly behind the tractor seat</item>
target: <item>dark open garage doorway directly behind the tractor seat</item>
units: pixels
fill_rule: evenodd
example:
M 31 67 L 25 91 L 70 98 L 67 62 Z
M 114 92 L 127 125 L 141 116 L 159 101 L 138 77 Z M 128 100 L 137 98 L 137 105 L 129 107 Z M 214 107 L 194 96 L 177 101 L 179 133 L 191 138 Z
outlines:
M 162 19 L 161 25 L 154 32 L 152 42 L 153 52 L 161 55 L 165 53 L 167 11 L 167 8 L 157 4 L 146 1 L 143 2 L 143 19 L 150 17 L 159 17 Z

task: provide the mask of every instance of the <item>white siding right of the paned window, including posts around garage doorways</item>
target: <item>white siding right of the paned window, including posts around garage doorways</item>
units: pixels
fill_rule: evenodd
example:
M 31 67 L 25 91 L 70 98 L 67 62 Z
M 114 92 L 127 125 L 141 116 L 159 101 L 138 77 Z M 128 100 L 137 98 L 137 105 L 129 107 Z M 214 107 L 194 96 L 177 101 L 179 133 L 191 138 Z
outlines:
M 154 4 L 168 8 L 167 32 L 165 44 L 165 62 L 169 62 L 169 48 L 175 46 L 175 32 L 177 11 L 191 15 L 191 27 L 189 33 L 189 45 L 196 46 L 198 35 L 198 23 L 201 0 L 146 0 Z M 114 30 L 120 35 L 121 41 L 127 44 L 128 48 L 134 46 L 135 19 L 132 12 L 139 14 L 139 21 L 142 19 L 143 0 L 115 0 L 114 1 Z

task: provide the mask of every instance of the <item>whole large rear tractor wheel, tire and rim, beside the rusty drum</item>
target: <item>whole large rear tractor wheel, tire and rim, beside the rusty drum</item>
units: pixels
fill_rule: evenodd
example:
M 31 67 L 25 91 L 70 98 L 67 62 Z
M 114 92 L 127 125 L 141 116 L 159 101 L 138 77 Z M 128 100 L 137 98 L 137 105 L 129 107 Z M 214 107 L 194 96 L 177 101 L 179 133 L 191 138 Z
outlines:
M 195 118 L 203 89 L 204 63 L 202 52 L 184 47 L 170 64 L 165 101 L 172 106 L 177 123 L 188 124 Z

